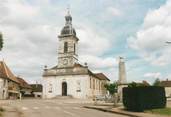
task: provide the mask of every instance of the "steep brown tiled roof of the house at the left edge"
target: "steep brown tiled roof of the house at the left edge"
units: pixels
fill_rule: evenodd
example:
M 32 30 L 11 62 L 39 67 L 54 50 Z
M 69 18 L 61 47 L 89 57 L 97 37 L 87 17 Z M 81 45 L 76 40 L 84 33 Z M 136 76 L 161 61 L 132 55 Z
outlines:
M 0 61 L 0 77 L 19 83 L 18 79 L 11 72 L 11 70 L 8 68 L 4 61 Z

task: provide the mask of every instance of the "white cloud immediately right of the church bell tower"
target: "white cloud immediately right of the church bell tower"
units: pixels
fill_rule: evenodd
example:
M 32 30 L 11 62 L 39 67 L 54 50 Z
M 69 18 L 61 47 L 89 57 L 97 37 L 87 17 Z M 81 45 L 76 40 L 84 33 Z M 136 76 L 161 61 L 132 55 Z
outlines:
M 81 25 L 77 30 L 79 41 L 79 53 L 89 55 L 102 55 L 110 49 L 111 40 L 98 34 L 91 26 Z

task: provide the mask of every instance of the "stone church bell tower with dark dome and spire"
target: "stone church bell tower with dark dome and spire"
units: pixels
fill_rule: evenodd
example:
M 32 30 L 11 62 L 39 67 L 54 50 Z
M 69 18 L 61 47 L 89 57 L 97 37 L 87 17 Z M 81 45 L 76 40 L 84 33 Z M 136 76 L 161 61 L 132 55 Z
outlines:
M 58 68 L 73 67 L 78 61 L 77 46 L 78 38 L 72 27 L 72 17 L 68 10 L 65 16 L 65 26 L 61 30 L 58 48 Z

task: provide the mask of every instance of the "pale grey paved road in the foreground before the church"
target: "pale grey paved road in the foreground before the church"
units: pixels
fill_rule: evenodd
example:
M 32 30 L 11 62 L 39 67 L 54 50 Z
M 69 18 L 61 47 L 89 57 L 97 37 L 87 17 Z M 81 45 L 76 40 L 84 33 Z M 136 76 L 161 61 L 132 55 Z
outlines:
M 123 115 L 83 108 L 70 100 L 22 100 L 12 101 L 9 106 L 21 112 L 22 117 L 126 117 Z

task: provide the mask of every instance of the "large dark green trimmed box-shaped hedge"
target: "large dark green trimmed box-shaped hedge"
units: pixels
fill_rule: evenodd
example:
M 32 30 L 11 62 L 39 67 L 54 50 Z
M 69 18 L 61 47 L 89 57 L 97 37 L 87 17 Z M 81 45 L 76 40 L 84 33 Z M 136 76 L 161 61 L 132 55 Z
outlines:
M 130 111 L 164 108 L 166 106 L 164 87 L 125 87 L 123 88 L 123 104 Z

